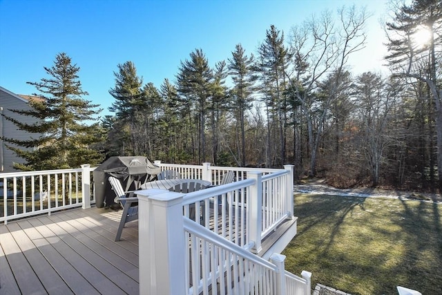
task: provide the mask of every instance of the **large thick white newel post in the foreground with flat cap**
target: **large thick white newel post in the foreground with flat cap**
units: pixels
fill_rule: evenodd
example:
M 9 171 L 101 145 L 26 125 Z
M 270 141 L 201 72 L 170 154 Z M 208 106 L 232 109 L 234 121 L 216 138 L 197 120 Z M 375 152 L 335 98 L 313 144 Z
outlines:
M 157 189 L 136 194 L 140 294 L 185 294 L 184 195 Z

